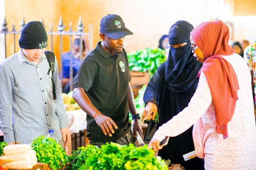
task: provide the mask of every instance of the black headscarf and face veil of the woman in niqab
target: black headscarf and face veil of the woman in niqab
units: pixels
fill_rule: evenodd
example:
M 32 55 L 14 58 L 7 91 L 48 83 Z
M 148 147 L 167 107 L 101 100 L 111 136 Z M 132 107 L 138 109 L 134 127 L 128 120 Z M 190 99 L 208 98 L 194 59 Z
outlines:
M 190 47 L 190 32 L 194 29 L 187 21 L 175 22 L 169 30 L 169 44 L 187 43 L 183 47 L 170 47 L 165 70 L 165 80 L 172 92 L 185 92 L 195 82 L 202 64 L 196 61 Z

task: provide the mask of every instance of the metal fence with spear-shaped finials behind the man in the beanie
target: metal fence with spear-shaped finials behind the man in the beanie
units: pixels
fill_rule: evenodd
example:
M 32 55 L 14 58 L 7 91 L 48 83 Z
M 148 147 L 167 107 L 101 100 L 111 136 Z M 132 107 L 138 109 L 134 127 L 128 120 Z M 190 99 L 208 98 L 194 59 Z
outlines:
M 41 22 L 43 23 L 44 25 L 44 22 L 43 22 L 43 19 L 41 19 Z M 13 54 L 16 53 L 15 51 L 15 36 L 16 35 L 20 35 L 21 33 L 21 30 L 22 28 L 26 25 L 25 23 L 25 20 L 24 18 L 22 19 L 22 22 L 21 22 L 21 25 L 20 25 L 20 30 L 17 31 L 15 30 L 15 24 L 13 24 L 12 26 L 12 30 L 9 31 L 7 29 L 7 22 L 6 22 L 6 19 L 4 18 L 4 22 L 2 24 L 2 30 L 0 31 L 0 33 L 3 33 L 4 34 L 4 45 L 5 45 L 5 58 L 7 57 L 6 56 L 6 35 L 13 35 L 13 44 L 14 44 L 14 49 L 13 49 Z M 44 27 L 46 27 L 44 25 Z M 84 32 L 83 29 L 84 29 L 84 25 L 82 24 L 82 18 L 81 16 L 79 17 L 79 20 L 78 20 L 78 23 L 76 25 L 77 27 L 77 30 L 76 31 L 73 31 L 72 30 L 72 23 L 70 22 L 69 24 L 69 30 L 68 31 L 64 31 L 64 28 L 66 26 L 63 25 L 63 22 L 62 22 L 62 17 L 60 17 L 60 20 L 59 20 L 59 23 L 57 25 L 57 32 L 53 32 L 52 31 L 52 23 L 51 23 L 51 30 L 49 32 L 47 32 L 47 35 L 50 35 L 51 36 L 51 50 L 52 52 L 54 52 L 53 50 L 53 36 L 60 36 L 60 62 L 58 63 L 60 65 L 60 80 L 62 82 L 62 79 L 63 79 L 63 63 L 62 63 L 62 47 L 63 47 L 63 36 L 70 36 L 69 37 L 69 46 L 70 46 L 70 54 L 72 54 L 72 36 L 76 35 L 76 36 L 79 36 L 79 39 L 80 39 L 80 49 L 79 49 L 79 52 L 80 52 L 80 60 L 82 60 L 82 41 L 83 41 L 83 38 L 82 36 L 87 36 L 88 37 L 88 42 L 89 42 L 89 50 L 91 50 L 93 48 L 93 26 L 92 24 L 89 24 L 89 32 Z M 72 60 L 73 60 L 73 55 L 70 55 L 70 91 L 73 90 L 73 66 L 72 66 Z M 61 84 L 62 85 L 62 84 Z

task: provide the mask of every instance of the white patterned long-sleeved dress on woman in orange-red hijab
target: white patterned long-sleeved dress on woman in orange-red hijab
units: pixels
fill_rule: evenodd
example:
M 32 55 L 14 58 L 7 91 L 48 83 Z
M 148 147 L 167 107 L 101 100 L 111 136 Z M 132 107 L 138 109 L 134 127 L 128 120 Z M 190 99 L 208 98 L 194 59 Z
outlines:
M 222 134 L 215 132 L 215 109 L 209 84 L 203 72 L 188 107 L 163 124 L 154 138 L 162 141 L 165 136 L 175 137 L 194 124 L 194 145 L 197 156 L 204 158 L 205 169 L 254 170 L 256 169 L 256 128 L 251 74 L 241 56 L 233 54 L 222 57 L 233 66 L 239 84 L 235 112 L 228 123 L 228 138 L 223 139 Z

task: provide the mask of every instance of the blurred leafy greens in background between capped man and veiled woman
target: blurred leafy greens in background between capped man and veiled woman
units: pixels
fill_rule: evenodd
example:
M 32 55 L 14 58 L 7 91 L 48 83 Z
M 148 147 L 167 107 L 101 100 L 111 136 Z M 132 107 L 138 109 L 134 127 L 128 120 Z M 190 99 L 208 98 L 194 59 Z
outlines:
M 148 71 L 152 77 L 157 67 L 166 61 L 164 53 L 164 49 L 151 47 L 127 53 L 129 69 L 140 72 Z

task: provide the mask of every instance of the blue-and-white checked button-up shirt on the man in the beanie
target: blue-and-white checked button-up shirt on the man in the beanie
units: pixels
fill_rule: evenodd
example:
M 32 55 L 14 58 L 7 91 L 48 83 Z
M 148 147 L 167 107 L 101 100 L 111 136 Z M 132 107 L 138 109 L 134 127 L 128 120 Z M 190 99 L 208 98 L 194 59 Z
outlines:
M 67 128 L 66 108 L 61 97 L 58 63 L 55 58 L 54 82 L 57 100 L 53 100 L 49 63 L 43 54 L 38 64 L 31 63 L 22 50 L 0 64 L 0 128 L 4 141 L 29 144 L 39 135 Z

